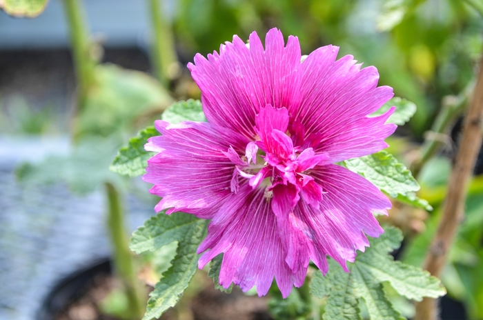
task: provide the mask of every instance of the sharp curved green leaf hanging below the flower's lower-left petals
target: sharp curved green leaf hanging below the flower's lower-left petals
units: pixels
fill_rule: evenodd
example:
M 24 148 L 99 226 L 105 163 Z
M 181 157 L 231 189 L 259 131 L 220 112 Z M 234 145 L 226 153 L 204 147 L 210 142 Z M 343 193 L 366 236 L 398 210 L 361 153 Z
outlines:
M 207 220 L 192 214 L 175 212 L 167 215 L 163 211 L 132 234 L 130 248 L 137 253 L 155 251 L 178 241 L 175 259 L 150 293 L 144 320 L 159 318 L 168 308 L 176 305 L 188 288 L 197 270 L 199 257 L 196 250 L 204 239 L 207 224 Z

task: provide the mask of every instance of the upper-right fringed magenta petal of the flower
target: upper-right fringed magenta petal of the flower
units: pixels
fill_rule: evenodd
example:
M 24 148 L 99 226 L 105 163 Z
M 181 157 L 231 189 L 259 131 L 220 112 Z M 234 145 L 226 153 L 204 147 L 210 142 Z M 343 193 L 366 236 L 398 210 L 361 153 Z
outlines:
M 360 70 L 352 56 L 335 61 L 337 50 L 326 46 L 308 55 L 301 74 L 304 100 L 289 110 L 294 121 L 304 126 L 305 139 L 317 136 L 314 149 L 327 152 L 333 162 L 386 148 L 383 140 L 396 128 L 392 123 L 384 125 L 393 110 L 380 117 L 366 117 L 393 97 L 393 89 L 376 88 L 376 68 Z

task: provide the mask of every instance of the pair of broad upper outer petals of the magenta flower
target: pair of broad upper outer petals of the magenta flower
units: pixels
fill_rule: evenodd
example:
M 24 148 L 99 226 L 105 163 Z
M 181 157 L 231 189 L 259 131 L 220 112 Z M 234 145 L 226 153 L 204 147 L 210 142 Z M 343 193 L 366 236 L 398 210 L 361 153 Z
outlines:
M 301 63 L 298 39 L 290 36 L 284 46 L 282 33 L 272 29 L 265 50 L 255 32 L 250 48 L 235 36 L 219 54 L 208 54 L 208 59 L 197 54 L 188 68 L 201 89 L 209 122 L 251 139 L 260 108 L 287 108 L 290 123 L 305 128 L 302 140 L 314 141 L 308 147 L 330 151 L 335 163 L 385 148 L 383 140 L 395 130 L 393 124 L 384 126 L 388 114 L 366 118 L 393 97 L 392 88 L 377 88 L 376 68 L 361 70 L 350 55 L 336 61 L 337 52 L 325 46 Z

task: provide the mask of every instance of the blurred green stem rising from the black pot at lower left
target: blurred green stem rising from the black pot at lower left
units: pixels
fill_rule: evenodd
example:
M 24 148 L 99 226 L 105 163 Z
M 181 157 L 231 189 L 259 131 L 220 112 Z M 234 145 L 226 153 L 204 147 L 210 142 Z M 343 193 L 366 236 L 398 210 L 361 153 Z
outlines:
M 134 261 L 128 246 L 124 227 L 124 212 L 121 209 L 119 194 L 112 184 L 106 182 L 108 195 L 108 228 L 114 254 L 114 266 L 124 284 L 128 297 L 128 314 L 131 319 L 141 319 L 144 314 L 144 292 L 137 281 Z

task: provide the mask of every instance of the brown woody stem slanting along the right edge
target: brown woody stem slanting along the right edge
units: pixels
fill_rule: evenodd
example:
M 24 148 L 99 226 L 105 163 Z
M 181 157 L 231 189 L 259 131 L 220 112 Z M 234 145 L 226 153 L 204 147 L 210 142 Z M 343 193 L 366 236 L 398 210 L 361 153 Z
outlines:
M 464 200 L 478 151 L 482 145 L 483 123 L 483 58 L 477 77 L 473 99 L 463 123 L 462 140 L 456 154 L 453 170 L 449 179 L 448 194 L 443 206 L 443 214 L 437 232 L 431 243 L 424 268 L 439 277 L 449 249 L 453 244 L 457 228 L 463 217 Z M 436 319 L 434 299 L 425 298 L 416 306 L 415 320 Z

